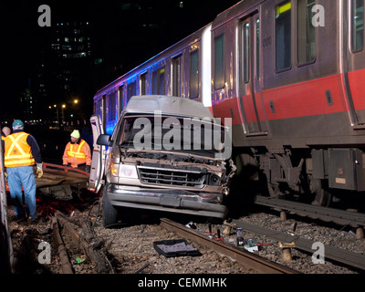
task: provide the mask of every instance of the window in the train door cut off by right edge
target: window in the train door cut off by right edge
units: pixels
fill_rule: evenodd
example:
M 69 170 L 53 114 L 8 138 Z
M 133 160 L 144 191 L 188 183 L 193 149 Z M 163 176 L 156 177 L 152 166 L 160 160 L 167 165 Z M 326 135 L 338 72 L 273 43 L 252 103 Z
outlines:
M 352 0 L 351 7 L 351 49 L 358 52 L 364 47 L 364 0 Z

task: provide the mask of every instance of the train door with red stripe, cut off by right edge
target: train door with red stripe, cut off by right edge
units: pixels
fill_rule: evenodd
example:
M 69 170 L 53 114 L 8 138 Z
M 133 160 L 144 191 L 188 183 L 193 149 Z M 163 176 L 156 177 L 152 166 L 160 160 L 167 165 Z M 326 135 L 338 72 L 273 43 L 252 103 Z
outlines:
M 364 48 L 364 0 L 349 0 L 349 22 L 344 23 L 344 81 L 349 101 L 349 114 L 354 129 L 365 129 L 365 99 L 363 99 L 365 78 Z M 346 29 L 348 26 L 349 29 Z

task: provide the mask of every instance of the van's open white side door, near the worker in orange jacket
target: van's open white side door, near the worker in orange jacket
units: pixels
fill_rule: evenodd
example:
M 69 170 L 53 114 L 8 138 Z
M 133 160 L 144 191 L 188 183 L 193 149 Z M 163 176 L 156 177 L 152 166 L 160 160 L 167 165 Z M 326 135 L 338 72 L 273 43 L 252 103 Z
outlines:
M 104 134 L 102 121 L 99 115 L 94 115 L 90 118 L 93 147 L 92 162 L 89 176 L 89 191 L 99 193 L 101 185 L 104 184 L 104 169 L 105 169 L 105 146 L 97 144 L 99 135 Z

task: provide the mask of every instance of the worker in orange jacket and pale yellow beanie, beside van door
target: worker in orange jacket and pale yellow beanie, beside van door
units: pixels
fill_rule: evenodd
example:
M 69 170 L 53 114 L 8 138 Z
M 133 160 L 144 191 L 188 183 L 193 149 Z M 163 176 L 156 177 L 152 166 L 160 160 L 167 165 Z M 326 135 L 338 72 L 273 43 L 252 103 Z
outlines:
M 91 167 L 91 151 L 89 144 L 80 139 L 78 130 L 71 133 L 70 141 L 66 145 L 63 153 L 63 165 L 70 165 L 86 172 L 90 172 Z

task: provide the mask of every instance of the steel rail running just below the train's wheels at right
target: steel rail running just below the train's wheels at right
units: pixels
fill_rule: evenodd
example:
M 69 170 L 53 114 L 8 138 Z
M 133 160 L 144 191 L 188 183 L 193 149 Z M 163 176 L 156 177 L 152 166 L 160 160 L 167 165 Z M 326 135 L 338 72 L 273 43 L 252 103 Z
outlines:
M 323 221 L 331 221 L 337 224 L 349 224 L 353 227 L 365 226 L 365 214 L 346 212 L 339 209 L 314 206 L 308 203 L 297 203 L 276 198 L 257 196 L 255 203 L 272 208 L 291 211 L 296 214 L 305 214 Z

